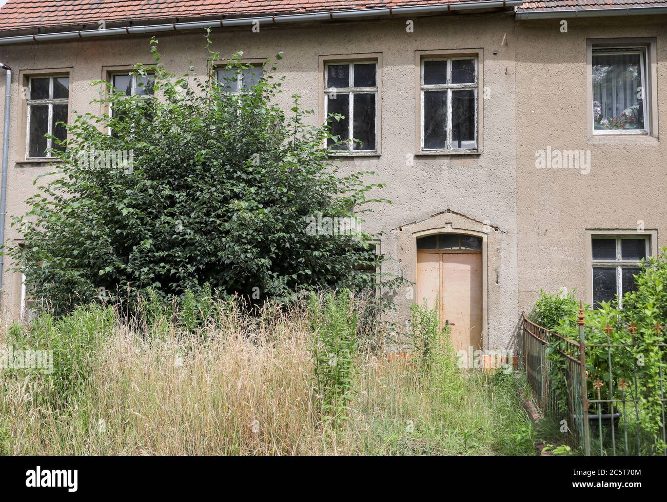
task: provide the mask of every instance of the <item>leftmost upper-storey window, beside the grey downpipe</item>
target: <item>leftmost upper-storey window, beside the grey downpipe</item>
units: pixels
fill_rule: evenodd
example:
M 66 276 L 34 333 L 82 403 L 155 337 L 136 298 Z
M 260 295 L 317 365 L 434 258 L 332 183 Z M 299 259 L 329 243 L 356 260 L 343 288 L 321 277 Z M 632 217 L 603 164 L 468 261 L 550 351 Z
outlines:
M 47 159 L 49 149 L 63 150 L 45 135 L 52 134 L 61 141 L 67 130 L 58 122 L 67 123 L 69 113 L 69 77 L 30 77 L 27 91 L 27 137 L 25 157 Z

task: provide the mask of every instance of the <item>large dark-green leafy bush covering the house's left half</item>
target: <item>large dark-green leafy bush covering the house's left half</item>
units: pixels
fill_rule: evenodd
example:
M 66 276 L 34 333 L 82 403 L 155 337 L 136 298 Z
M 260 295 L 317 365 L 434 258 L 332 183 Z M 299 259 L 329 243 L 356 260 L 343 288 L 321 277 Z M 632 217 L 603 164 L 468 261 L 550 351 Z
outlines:
M 226 93 L 217 53 L 199 78 L 167 72 L 155 39 L 151 50 L 154 67 L 134 73 L 155 74 L 154 95 L 97 82 L 112 116 L 74 115 L 67 149 L 55 151 L 57 176 L 15 221 L 25 247 L 9 252 L 33 296 L 63 312 L 146 287 L 180 295 L 209 283 L 260 301 L 368 281 L 355 270 L 376 265 L 369 236 L 309 232 L 308 218 L 357 217 L 380 185 L 339 173 L 327 125 L 306 125 L 312 111 L 297 95 L 290 111 L 276 104 L 273 63 L 257 85 Z M 227 69 L 247 67 L 234 57 Z M 131 163 L 105 164 L 110 152 L 131 153 Z

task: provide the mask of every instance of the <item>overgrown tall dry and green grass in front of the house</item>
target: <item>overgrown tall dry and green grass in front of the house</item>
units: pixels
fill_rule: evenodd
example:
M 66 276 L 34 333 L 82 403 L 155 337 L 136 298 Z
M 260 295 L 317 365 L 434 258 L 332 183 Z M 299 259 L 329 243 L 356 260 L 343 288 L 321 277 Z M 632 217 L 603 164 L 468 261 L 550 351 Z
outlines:
M 434 363 L 438 371 L 418 371 L 410 359 L 388 359 L 378 342 L 386 327 L 370 330 L 373 343 L 370 332 L 358 333 L 352 351 L 346 334 L 351 392 L 344 419 L 327 419 L 315 372 L 323 357 L 313 345 L 317 327 L 335 326 L 344 319 L 341 309 L 358 305 L 321 305 L 314 312 L 301 304 L 248 315 L 236 302 L 213 302 L 198 327 L 190 321 L 201 311 L 190 307 L 184 314 L 148 305 L 150 315 L 140 316 L 151 319 L 146 324 L 89 306 L 64 319 L 5 329 L 0 346 L 41 347 L 59 356 L 50 375 L 3 371 L 0 451 L 534 454 L 516 378 L 464 375 L 451 354 Z

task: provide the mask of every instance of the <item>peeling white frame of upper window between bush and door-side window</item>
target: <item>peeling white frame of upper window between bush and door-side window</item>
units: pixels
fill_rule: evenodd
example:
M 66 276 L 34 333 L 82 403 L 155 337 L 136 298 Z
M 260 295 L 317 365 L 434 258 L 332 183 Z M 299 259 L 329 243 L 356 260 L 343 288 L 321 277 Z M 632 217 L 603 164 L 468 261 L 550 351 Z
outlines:
M 348 87 L 329 87 L 329 66 L 341 66 L 349 65 L 350 67 L 350 81 Z M 373 87 L 354 87 L 354 65 L 375 65 L 376 67 L 376 85 Z M 329 95 L 333 94 L 337 97 L 342 94 L 348 94 L 348 138 L 344 141 L 347 143 L 348 148 L 345 150 L 333 150 L 335 155 L 354 155 L 357 153 L 377 153 L 378 152 L 378 143 L 380 139 L 378 138 L 378 82 L 380 81 L 380 75 L 378 75 L 378 60 L 377 59 L 362 59 L 360 61 L 327 61 L 324 63 L 324 117 L 327 119 L 329 117 Z M 354 94 L 373 94 L 375 95 L 375 148 L 372 149 L 354 149 Z

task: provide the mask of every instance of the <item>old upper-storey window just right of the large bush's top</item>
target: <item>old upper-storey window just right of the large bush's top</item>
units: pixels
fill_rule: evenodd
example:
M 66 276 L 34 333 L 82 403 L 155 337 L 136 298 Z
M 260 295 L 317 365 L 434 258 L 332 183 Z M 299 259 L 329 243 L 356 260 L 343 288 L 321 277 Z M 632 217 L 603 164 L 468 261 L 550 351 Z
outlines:
M 378 61 L 325 63 L 324 116 L 331 120 L 327 147 L 342 153 L 378 152 Z

